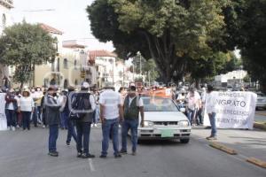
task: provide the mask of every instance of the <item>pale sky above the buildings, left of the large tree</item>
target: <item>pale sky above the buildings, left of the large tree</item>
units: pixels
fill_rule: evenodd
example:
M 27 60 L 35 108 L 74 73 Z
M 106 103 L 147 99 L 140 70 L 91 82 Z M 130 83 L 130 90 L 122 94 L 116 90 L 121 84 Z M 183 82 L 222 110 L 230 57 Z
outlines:
M 86 7 L 94 0 L 13 0 L 12 22 L 45 23 L 62 31 L 63 40 L 79 40 L 89 50 L 114 50 L 112 42 L 98 42 L 90 31 Z M 52 11 L 45 11 L 52 10 Z

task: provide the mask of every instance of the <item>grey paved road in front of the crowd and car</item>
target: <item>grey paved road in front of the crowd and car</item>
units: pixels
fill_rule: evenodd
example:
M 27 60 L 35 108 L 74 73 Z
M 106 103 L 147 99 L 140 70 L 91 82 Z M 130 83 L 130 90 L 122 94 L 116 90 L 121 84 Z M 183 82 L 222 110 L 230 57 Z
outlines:
M 197 132 L 198 131 L 198 132 Z M 208 146 L 200 130 L 189 144 L 156 141 L 139 145 L 136 157 L 76 158 L 74 144 L 59 132 L 59 158 L 47 155 L 47 129 L 0 132 L 1 177 L 265 177 L 266 170 Z M 206 131 L 206 130 L 204 130 Z M 207 132 L 205 132 L 207 134 Z M 93 128 L 90 152 L 99 156 L 101 131 Z

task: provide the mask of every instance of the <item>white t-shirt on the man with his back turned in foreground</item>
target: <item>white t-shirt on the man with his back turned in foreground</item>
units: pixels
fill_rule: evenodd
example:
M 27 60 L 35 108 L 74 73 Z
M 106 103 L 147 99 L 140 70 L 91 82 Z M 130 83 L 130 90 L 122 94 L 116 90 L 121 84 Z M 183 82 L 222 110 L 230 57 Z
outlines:
M 105 119 L 119 118 L 118 105 L 122 105 L 122 100 L 119 93 L 114 92 L 112 89 L 106 89 L 99 96 L 99 104 L 105 107 L 103 112 Z

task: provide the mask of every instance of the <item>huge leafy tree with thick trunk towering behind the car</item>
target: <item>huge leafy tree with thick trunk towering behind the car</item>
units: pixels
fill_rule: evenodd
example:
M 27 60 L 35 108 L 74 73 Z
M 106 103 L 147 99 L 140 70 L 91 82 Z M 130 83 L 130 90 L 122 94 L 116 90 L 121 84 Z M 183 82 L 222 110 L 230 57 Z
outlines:
M 164 81 L 182 78 L 188 61 L 223 43 L 223 7 L 229 0 L 96 0 L 87 8 L 93 35 L 113 41 L 125 57 L 139 50 L 153 58 Z

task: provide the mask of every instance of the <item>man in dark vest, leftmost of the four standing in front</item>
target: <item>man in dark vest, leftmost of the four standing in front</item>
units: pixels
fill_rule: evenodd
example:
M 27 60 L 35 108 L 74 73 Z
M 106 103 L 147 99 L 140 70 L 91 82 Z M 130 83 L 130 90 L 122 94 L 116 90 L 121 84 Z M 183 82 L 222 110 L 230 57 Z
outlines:
M 64 103 L 57 103 L 54 98 L 56 89 L 51 87 L 48 89 L 48 95 L 44 98 L 46 107 L 46 124 L 49 125 L 49 154 L 52 157 L 58 157 L 57 139 L 59 137 L 59 122 L 60 122 L 60 109 Z M 66 100 L 65 100 L 66 102 Z

